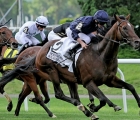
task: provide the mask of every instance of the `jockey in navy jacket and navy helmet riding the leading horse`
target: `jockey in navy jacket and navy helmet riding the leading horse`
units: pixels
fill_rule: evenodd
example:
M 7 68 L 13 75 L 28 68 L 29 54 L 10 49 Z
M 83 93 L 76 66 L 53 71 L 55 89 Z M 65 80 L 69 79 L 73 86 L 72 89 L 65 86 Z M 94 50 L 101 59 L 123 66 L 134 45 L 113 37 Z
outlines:
M 87 44 L 91 41 L 88 34 L 92 32 L 96 37 L 97 29 L 103 27 L 107 22 L 109 22 L 109 16 L 104 10 L 98 10 L 94 16 L 83 16 L 71 22 L 70 27 L 67 29 L 67 36 L 71 41 L 77 41 L 77 43 L 66 51 L 64 56 L 71 59 L 73 53 L 75 53 L 78 48 L 82 47 L 86 49 Z

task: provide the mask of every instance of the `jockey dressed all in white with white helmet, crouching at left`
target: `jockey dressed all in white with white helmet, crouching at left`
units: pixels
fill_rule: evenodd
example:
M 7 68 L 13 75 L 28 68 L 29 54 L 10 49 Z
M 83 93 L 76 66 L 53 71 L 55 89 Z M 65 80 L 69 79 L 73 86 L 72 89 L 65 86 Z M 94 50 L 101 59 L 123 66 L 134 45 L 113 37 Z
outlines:
M 39 16 L 36 21 L 28 21 L 23 24 L 19 31 L 15 35 L 15 39 L 19 44 L 25 45 L 37 45 L 40 43 L 38 39 L 34 36 L 40 34 L 42 41 L 45 40 L 46 35 L 44 33 L 44 28 L 49 24 L 48 19 L 44 16 Z M 21 47 L 21 48 L 22 48 Z

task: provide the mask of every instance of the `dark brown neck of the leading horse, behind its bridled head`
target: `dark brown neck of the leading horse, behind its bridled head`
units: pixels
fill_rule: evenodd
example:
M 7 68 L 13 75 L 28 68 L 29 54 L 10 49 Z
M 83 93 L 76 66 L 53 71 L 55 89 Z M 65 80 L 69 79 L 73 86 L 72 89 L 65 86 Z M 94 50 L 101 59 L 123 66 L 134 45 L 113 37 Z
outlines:
M 117 57 L 119 44 L 117 41 L 117 26 L 111 28 L 105 35 L 105 38 L 99 44 L 99 52 L 104 60 L 111 60 Z

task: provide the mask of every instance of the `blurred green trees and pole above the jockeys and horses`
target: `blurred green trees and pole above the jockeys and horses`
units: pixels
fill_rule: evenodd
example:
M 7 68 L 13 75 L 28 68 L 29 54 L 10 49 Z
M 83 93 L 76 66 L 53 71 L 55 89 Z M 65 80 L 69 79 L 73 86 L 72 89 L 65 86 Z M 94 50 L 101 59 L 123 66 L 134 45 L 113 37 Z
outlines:
M 96 10 L 104 9 L 110 16 L 131 14 L 136 33 L 140 35 L 139 0 L 0 0 L 0 23 L 8 23 L 11 29 L 20 27 L 37 16 L 48 18 L 50 26 L 62 24 L 83 15 L 93 15 Z

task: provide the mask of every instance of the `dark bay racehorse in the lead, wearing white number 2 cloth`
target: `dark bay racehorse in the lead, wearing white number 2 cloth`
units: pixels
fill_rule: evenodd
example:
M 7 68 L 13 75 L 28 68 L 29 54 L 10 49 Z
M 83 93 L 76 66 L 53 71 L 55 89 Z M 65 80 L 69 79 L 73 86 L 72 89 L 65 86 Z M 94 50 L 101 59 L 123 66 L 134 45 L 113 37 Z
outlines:
M 72 85 L 75 85 L 75 83 L 78 82 L 79 84 L 82 84 L 90 93 L 99 98 L 100 104 L 94 108 L 95 112 L 103 107 L 106 102 L 108 103 L 108 99 L 98 88 L 98 86 L 102 84 L 105 84 L 109 87 L 125 88 L 130 90 L 137 100 L 138 106 L 140 107 L 140 99 L 134 87 L 123 82 L 116 76 L 119 43 L 125 40 L 135 49 L 138 49 L 140 46 L 140 39 L 135 34 L 133 26 L 129 23 L 129 17 L 130 16 L 128 15 L 126 17 L 127 20 L 121 20 L 118 16 L 115 16 L 117 22 L 105 35 L 104 39 L 96 45 L 91 43 L 87 49 L 82 50 L 78 61 L 76 62 L 76 72 L 78 73 L 77 78 L 79 78 L 79 81 L 77 81 L 73 73 L 68 71 L 67 67 L 62 68 L 59 64 L 56 64 L 52 60 L 46 58 L 46 52 L 49 50 L 50 46 L 52 46 L 57 41 L 50 41 L 46 43 L 38 52 L 36 59 L 34 58 L 35 66 L 38 70 L 36 74 L 44 79 L 48 79 L 49 75 L 49 80 L 52 81 L 54 85 L 56 98 L 78 106 L 79 109 L 82 110 L 87 116 L 92 116 L 92 114 L 89 113 L 87 109 L 80 103 L 80 99 L 77 98 L 75 94 L 73 94 L 72 98 L 66 97 L 63 94 L 60 87 L 60 79 L 63 82 L 69 84 L 71 88 L 73 87 Z M 4 86 L 7 81 L 8 80 L 0 82 L 0 86 Z M 33 81 L 31 80 L 31 82 Z M 28 81 L 28 85 L 33 91 L 37 91 L 36 87 L 34 88 L 35 84 L 32 86 Z M 72 90 L 77 92 L 77 89 Z M 28 89 L 26 89 L 26 92 L 27 91 Z M 19 107 L 21 104 L 20 102 L 23 101 L 21 98 L 25 98 L 24 95 L 25 94 L 23 93 L 20 94 L 17 107 Z M 41 98 L 36 97 L 36 99 L 40 101 L 39 99 Z M 16 112 L 18 110 L 19 109 L 17 108 Z M 93 120 L 97 118 L 91 117 L 91 119 Z

